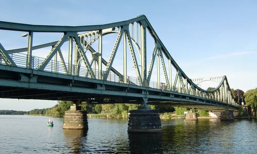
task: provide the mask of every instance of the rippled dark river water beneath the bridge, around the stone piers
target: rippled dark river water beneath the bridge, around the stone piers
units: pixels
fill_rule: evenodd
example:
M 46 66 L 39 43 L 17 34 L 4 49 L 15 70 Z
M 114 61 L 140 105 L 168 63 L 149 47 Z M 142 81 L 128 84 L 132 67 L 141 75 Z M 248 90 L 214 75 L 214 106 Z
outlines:
M 257 121 L 162 122 L 161 134 L 127 134 L 126 120 L 88 119 L 88 131 L 63 130 L 63 119 L 0 115 L 0 153 L 257 153 Z

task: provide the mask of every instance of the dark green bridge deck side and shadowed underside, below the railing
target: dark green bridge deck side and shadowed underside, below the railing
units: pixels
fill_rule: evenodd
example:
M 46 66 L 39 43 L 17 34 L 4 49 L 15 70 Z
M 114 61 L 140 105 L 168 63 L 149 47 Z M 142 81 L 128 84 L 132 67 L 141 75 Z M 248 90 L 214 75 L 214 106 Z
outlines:
M 107 82 L 26 68 L 0 66 L 0 98 L 78 100 L 94 104 L 172 105 L 204 109 L 236 109 L 235 106 L 174 91 Z M 143 91 L 148 91 L 144 93 Z

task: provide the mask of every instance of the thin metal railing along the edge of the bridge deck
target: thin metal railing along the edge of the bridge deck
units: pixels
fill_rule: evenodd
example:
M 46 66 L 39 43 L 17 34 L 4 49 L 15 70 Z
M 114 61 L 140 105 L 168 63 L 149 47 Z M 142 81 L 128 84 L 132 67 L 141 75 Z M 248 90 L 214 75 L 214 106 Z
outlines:
M 26 61 L 28 59 L 27 54 L 24 53 L 10 53 L 11 59 L 15 62 L 17 67 L 27 68 Z M 31 56 L 31 69 L 39 70 L 41 64 L 45 61 L 44 58 L 39 56 Z M 6 65 L 5 61 L 0 59 L 0 64 Z M 94 75 L 96 76 L 97 80 L 103 79 L 103 76 L 105 75 L 105 72 L 100 71 L 98 69 L 92 69 L 94 72 Z M 61 61 L 55 61 L 51 60 L 46 67 L 44 68 L 44 71 L 52 72 L 52 73 L 60 73 L 60 74 L 68 74 L 72 76 L 80 76 L 84 78 L 93 79 L 92 75 L 90 74 L 90 71 L 87 67 L 84 66 L 76 66 L 76 65 L 70 65 L 68 63 L 63 63 Z M 101 75 L 102 74 L 102 75 Z M 107 81 L 109 82 L 116 82 L 116 83 L 124 83 L 124 78 L 126 79 L 126 84 L 132 84 L 141 86 L 139 80 L 133 76 L 119 76 L 113 71 L 110 71 L 107 76 Z M 163 83 L 157 83 L 154 81 L 150 81 L 148 87 L 155 88 L 155 89 L 162 89 L 167 90 L 167 85 Z

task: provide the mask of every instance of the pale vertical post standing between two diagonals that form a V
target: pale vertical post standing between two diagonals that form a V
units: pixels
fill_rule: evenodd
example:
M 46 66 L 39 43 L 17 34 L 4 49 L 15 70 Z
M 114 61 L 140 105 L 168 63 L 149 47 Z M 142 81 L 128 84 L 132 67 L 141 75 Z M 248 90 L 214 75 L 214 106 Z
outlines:
M 98 33 L 98 41 L 99 41 L 99 44 L 98 44 L 98 79 L 99 80 L 102 80 L 102 49 L 103 49 L 103 44 L 102 44 L 102 37 L 103 37 L 103 31 L 102 30 L 99 30 L 99 33 Z

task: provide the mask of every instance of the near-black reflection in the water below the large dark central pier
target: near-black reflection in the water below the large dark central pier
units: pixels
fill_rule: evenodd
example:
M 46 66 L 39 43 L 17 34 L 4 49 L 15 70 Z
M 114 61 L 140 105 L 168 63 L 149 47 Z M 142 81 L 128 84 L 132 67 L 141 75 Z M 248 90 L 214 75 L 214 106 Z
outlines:
M 161 133 L 128 134 L 131 153 L 162 153 Z

